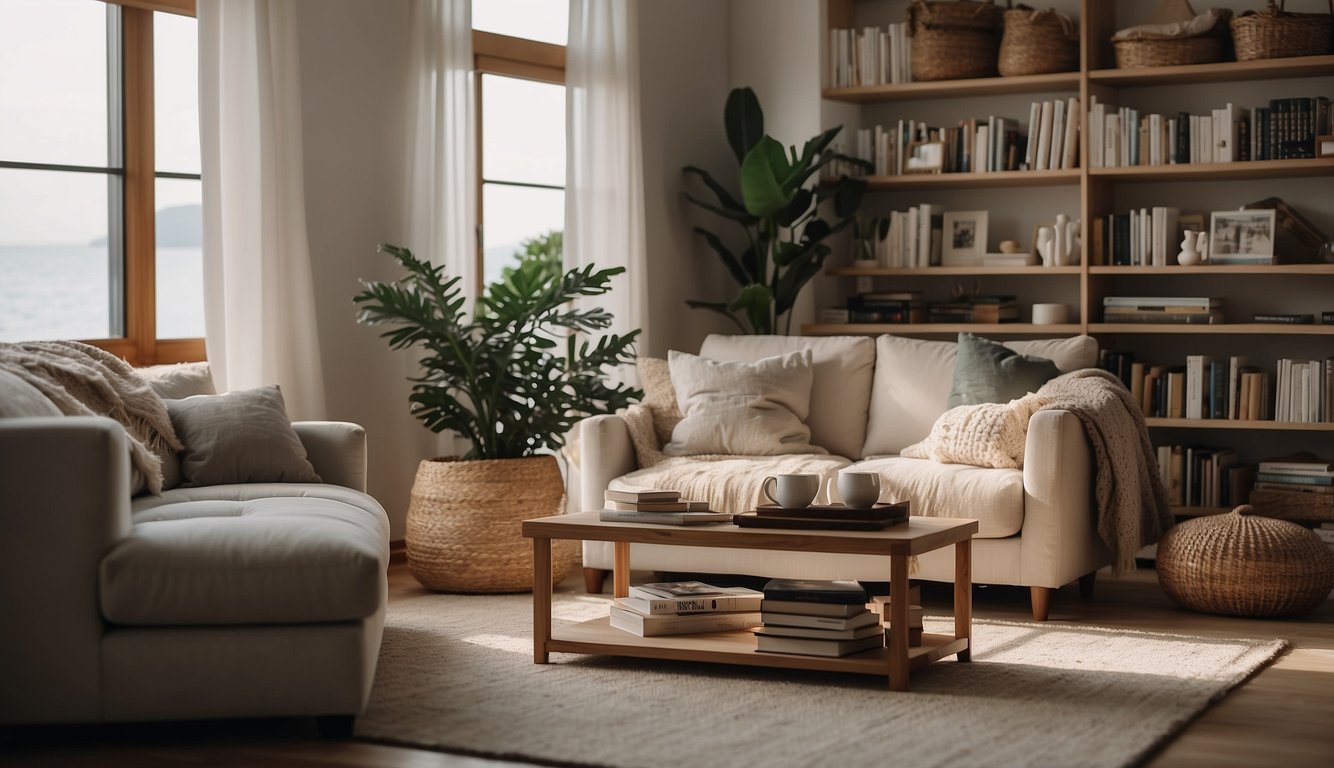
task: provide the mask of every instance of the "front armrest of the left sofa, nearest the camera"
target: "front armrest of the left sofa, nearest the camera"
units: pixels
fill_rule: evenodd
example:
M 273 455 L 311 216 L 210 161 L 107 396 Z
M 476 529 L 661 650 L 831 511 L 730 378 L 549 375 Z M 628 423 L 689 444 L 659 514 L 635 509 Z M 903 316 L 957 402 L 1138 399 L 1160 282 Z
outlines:
M 0 723 L 100 717 L 97 568 L 128 532 L 119 423 L 0 419 Z

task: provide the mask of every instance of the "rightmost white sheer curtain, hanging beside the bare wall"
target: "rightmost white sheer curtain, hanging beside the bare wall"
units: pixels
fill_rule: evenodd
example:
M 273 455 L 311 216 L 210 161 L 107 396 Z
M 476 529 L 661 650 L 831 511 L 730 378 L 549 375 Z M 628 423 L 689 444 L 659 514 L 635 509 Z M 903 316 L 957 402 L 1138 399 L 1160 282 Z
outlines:
M 638 43 L 634 0 L 570 0 L 566 264 L 626 268 L 594 301 L 615 316 L 614 332 L 640 328 L 647 349 Z

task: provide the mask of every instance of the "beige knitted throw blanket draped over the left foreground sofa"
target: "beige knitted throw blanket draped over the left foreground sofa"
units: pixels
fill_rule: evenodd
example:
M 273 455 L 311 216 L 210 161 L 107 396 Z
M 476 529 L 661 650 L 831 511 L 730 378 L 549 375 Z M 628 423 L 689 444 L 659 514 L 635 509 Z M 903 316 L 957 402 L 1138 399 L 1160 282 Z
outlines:
M 79 341 L 0 344 L 0 368 L 32 384 L 65 416 L 109 416 L 129 433 L 131 464 L 161 493 L 161 461 L 183 448 L 167 404 L 128 363 Z

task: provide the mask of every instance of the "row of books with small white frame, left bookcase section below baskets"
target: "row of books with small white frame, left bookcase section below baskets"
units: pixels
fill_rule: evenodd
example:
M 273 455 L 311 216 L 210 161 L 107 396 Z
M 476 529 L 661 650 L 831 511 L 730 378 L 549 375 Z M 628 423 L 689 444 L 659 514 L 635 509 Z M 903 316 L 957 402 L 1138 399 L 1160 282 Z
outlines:
M 876 176 L 919 171 L 991 173 L 1055 171 L 1079 165 L 1079 99 L 1034 101 L 1027 129 L 1014 117 L 991 115 L 942 128 L 919 120 L 860 128 L 856 156 L 871 163 Z M 938 165 L 914 167 L 915 144 L 939 141 Z

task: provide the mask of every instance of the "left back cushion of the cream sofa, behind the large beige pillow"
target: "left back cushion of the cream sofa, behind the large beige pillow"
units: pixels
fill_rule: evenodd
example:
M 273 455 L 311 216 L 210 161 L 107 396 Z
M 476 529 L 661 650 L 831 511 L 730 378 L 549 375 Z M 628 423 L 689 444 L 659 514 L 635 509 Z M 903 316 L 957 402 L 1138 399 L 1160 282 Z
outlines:
M 875 372 L 875 341 L 870 336 L 724 336 L 710 335 L 699 353 L 714 360 L 754 363 L 794 349 L 810 349 L 811 443 L 839 456 L 856 457 L 866 441 Z

